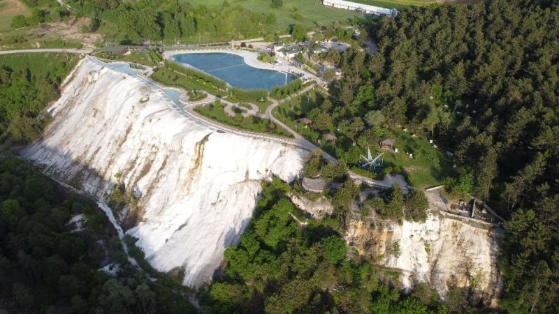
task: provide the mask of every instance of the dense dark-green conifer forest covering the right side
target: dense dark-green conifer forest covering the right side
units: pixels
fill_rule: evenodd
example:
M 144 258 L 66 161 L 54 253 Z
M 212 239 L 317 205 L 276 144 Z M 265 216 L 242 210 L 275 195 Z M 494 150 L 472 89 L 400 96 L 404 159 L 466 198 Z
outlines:
M 358 143 L 401 124 L 453 151 L 446 182 L 509 219 L 502 307 L 514 313 L 559 311 L 557 20 L 552 1 L 402 10 L 372 29 L 373 57 L 331 56 L 337 103 L 312 119 Z

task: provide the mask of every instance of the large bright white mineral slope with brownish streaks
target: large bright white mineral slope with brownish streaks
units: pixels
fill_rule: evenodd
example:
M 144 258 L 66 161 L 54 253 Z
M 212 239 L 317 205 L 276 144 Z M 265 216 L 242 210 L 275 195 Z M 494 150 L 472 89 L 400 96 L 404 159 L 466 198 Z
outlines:
M 198 287 L 247 226 L 260 181 L 293 180 L 305 153 L 210 130 L 170 108 L 161 89 L 112 68 L 82 61 L 43 139 L 22 155 L 101 199 L 124 186 L 140 217 L 127 233 L 146 259 L 159 271 L 184 267 L 184 284 Z

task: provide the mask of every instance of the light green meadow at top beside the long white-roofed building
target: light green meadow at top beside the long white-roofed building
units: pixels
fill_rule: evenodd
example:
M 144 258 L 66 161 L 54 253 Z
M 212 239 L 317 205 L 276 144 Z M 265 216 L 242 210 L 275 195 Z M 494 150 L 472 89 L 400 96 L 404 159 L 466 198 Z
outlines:
M 184 0 L 182 0 L 184 1 Z M 204 5 L 208 8 L 221 6 L 223 0 L 188 0 L 193 6 Z M 273 30 L 286 33 L 291 24 L 301 24 L 315 28 L 317 25 L 328 25 L 334 22 L 348 22 L 352 17 L 361 17 L 361 13 L 348 10 L 328 8 L 319 0 L 284 0 L 282 8 L 270 8 L 270 0 L 229 1 L 232 6 L 244 6 L 260 13 L 274 13 L 277 19 Z M 303 20 L 293 19 L 291 15 L 299 14 Z

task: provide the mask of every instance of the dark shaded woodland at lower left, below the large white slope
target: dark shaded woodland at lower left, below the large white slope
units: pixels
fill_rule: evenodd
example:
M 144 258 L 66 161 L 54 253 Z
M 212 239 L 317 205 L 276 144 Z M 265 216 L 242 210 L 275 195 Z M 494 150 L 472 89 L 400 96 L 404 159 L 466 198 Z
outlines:
M 75 217 L 80 221 L 68 223 Z M 100 270 L 109 263 L 113 275 Z M 15 301 L 17 313 L 194 311 L 128 262 L 96 204 L 6 156 L 0 157 L 0 299 Z

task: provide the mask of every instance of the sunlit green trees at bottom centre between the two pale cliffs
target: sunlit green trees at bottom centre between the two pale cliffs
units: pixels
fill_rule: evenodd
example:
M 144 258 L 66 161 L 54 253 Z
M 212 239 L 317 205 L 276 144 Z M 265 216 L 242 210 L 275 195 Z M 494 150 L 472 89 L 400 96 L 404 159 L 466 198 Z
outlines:
M 347 258 L 337 220 L 298 225 L 296 220 L 305 218 L 285 196 L 289 189 L 279 179 L 265 184 L 240 244 L 225 251 L 222 278 L 201 295 L 203 311 L 448 313 L 428 285 L 402 296 L 390 274 Z

